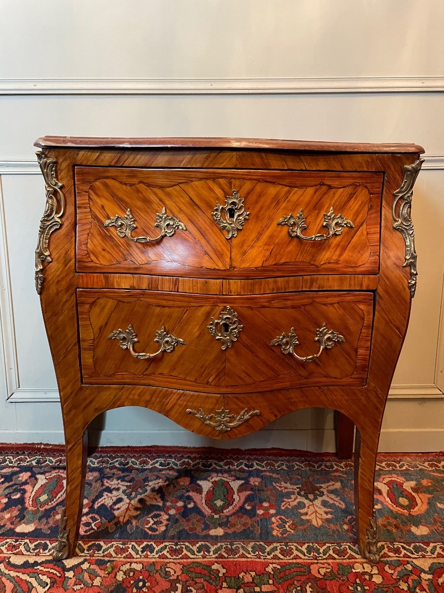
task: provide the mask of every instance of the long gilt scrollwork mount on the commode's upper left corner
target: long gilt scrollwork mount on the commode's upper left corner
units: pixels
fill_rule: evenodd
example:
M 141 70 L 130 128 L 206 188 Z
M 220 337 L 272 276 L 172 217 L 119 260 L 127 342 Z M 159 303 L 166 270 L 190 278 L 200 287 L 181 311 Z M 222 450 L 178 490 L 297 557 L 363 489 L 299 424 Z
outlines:
M 62 224 L 60 218 L 63 216 L 63 212 L 65 212 L 65 196 L 62 192 L 63 185 L 56 178 L 56 159 L 46 157 L 41 151 L 37 151 L 36 155 L 46 185 L 46 206 L 38 229 L 34 265 L 36 291 L 37 294 L 40 294 L 44 280 L 43 262 L 52 262 L 48 248 L 49 235 L 53 231 L 56 231 Z

